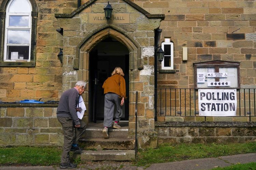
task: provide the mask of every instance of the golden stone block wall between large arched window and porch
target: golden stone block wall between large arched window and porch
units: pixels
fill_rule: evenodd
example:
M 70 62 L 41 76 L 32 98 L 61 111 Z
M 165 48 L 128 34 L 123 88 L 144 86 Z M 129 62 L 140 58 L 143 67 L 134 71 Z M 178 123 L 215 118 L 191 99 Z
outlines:
M 33 1 L 38 11 L 35 67 L 0 67 L 0 100 L 4 102 L 58 100 L 61 95 L 62 64 L 57 55 L 63 37 L 56 31 L 59 26 L 54 15 L 74 11 L 77 0 Z

